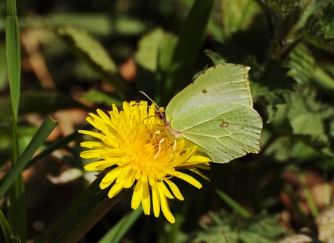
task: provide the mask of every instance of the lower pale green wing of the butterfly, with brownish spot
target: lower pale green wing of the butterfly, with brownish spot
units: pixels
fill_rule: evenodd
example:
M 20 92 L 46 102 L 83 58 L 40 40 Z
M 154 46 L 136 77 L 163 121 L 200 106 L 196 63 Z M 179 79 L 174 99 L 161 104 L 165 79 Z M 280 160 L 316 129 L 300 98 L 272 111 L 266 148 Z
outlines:
M 218 103 L 184 112 L 171 126 L 199 146 L 214 162 L 224 163 L 260 151 L 260 115 L 239 103 Z

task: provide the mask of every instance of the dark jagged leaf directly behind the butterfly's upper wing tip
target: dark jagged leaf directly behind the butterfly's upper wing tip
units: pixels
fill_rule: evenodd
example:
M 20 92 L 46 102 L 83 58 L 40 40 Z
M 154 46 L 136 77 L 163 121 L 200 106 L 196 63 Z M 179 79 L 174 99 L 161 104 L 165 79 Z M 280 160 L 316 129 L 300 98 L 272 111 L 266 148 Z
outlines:
M 296 83 L 288 74 L 290 69 L 277 60 L 269 60 L 266 65 L 260 65 L 246 49 L 232 43 L 212 44 L 216 52 L 207 50 L 205 53 L 214 65 L 232 62 L 250 67 L 249 80 L 253 100 L 266 108 L 267 122 L 270 122 L 276 114 L 276 105 L 286 103 L 284 94 L 291 92 L 292 85 Z

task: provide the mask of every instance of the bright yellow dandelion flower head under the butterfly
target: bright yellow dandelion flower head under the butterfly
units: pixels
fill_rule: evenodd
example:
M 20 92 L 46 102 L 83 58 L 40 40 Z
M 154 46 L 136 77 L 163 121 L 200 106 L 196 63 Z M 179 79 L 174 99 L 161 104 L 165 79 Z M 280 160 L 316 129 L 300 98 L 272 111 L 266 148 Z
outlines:
M 145 101 L 141 101 L 140 106 L 132 101 L 123 103 L 123 111 L 119 112 L 115 105 L 112 108 L 110 117 L 102 110 L 97 110 L 98 115 L 90 113 L 87 117 L 99 133 L 79 131 L 97 139 L 81 143 L 81 146 L 90 149 L 81 152 L 82 158 L 100 159 L 86 165 L 85 169 L 111 169 L 100 183 L 102 190 L 111 185 L 110 198 L 123 188 L 134 187 L 131 202 L 134 210 L 142 204 L 145 215 L 150 215 L 152 198 L 154 216 L 159 217 L 161 208 L 166 219 L 173 224 L 175 218 L 167 199 L 174 199 L 174 196 L 179 200 L 184 198 L 170 179 L 177 177 L 200 188 L 202 185 L 195 178 L 180 170 L 194 171 L 208 180 L 198 168 L 209 169 L 208 162 L 211 160 L 196 156 L 197 146 L 186 148 L 184 140 L 176 141 L 167 135 L 163 121 L 154 115 L 153 104 L 148 108 Z

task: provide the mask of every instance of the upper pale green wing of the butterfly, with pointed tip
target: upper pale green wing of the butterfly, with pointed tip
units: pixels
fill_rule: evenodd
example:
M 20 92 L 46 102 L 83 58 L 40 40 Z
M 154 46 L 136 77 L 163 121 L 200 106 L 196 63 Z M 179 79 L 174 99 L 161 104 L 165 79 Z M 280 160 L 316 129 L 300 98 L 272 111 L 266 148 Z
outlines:
M 210 67 L 168 103 L 167 121 L 186 110 L 213 103 L 233 102 L 253 107 L 248 83 L 249 69 L 250 67 L 234 64 Z

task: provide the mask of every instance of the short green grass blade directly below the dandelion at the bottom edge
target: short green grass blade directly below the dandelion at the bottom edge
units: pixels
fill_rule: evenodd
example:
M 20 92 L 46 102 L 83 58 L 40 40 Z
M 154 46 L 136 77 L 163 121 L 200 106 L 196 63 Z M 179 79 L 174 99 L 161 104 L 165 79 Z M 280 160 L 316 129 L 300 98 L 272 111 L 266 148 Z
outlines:
M 118 243 L 122 237 L 129 231 L 129 228 L 136 222 L 142 214 L 141 206 L 136 210 L 128 213 L 118 223 L 111 228 L 98 243 Z

